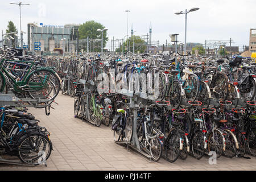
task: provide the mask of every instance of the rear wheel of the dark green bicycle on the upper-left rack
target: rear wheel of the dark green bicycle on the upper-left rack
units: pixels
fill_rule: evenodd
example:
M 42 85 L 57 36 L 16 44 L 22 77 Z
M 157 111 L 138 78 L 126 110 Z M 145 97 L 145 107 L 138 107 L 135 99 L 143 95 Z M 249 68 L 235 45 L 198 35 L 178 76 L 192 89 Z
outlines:
M 33 99 L 51 99 L 53 100 L 60 92 L 59 77 L 48 69 L 41 69 L 30 73 L 27 78 L 27 85 L 30 86 L 27 91 L 28 96 Z

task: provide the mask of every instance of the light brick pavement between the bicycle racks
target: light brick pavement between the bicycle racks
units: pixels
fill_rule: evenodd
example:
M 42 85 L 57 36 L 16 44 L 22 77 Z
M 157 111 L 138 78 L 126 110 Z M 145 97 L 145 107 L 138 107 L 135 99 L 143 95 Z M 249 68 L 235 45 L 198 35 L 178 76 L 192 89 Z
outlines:
M 44 109 L 29 110 L 40 126 L 51 133 L 53 150 L 47 160 L 47 166 L 23 167 L 0 164 L 0 170 L 111 170 L 111 171 L 151 171 L 151 170 L 256 170 L 256 158 L 225 158 L 217 159 L 216 165 L 208 163 L 208 157 L 197 160 L 188 156 L 186 160 L 178 159 L 175 163 L 160 159 L 150 162 L 134 150 L 114 143 L 113 131 L 110 127 L 100 128 L 91 123 L 82 122 L 73 117 L 74 98 L 59 94 L 51 109 L 51 115 L 46 116 Z

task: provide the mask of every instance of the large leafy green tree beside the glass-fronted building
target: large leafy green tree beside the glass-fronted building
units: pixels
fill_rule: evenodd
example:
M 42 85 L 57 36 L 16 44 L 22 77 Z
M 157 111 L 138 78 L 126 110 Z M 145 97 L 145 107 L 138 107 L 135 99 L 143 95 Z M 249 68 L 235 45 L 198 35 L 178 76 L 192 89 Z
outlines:
M 86 39 L 87 37 L 90 39 L 101 39 L 101 31 L 97 31 L 98 29 L 105 28 L 101 23 L 94 22 L 94 20 L 87 21 L 79 27 L 79 39 Z M 108 42 L 107 32 L 103 31 L 103 47 L 106 46 L 106 42 Z M 99 45 L 101 42 L 99 43 Z M 100 51 L 101 47 L 94 48 L 95 51 Z

